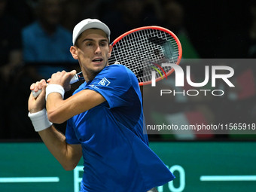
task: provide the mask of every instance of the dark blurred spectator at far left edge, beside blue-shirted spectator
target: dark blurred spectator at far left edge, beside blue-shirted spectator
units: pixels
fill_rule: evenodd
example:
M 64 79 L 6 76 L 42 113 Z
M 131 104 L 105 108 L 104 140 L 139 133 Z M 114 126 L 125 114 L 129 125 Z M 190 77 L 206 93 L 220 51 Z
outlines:
M 0 138 L 9 134 L 8 130 L 8 90 L 15 74 L 15 69 L 20 66 L 22 53 L 20 41 L 20 25 L 17 20 L 8 14 L 7 0 L 0 0 Z

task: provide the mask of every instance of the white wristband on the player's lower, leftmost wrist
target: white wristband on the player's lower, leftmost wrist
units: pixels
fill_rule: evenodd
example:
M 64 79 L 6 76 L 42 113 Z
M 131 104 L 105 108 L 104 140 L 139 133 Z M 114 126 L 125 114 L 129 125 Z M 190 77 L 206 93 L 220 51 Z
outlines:
M 53 124 L 48 120 L 47 111 L 45 110 L 45 108 L 36 113 L 31 114 L 29 112 L 29 117 L 30 117 L 30 120 L 32 121 L 32 124 L 36 132 L 46 130 Z

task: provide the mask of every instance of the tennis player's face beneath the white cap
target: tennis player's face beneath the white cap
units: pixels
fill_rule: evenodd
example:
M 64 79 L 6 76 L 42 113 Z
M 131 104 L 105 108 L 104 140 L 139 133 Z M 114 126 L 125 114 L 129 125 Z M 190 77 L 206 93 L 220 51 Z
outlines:
M 94 77 L 108 66 L 112 48 L 105 32 L 100 29 L 87 29 L 78 38 L 77 45 L 78 61 L 87 76 Z

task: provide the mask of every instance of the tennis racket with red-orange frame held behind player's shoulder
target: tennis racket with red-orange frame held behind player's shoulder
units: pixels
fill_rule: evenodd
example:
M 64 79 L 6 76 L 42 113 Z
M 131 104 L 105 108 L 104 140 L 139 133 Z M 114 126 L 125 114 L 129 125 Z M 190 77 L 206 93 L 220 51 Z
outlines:
M 152 72 L 155 81 L 167 78 L 174 69 L 168 65 L 162 66 L 162 63 L 178 65 L 182 56 L 181 43 L 177 36 L 160 26 L 130 30 L 116 38 L 111 45 L 113 49 L 108 59 L 109 65 L 126 66 L 136 75 L 140 86 L 151 84 Z M 78 74 L 72 78 L 71 84 L 83 79 L 81 72 Z M 35 97 L 41 93 L 38 92 Z

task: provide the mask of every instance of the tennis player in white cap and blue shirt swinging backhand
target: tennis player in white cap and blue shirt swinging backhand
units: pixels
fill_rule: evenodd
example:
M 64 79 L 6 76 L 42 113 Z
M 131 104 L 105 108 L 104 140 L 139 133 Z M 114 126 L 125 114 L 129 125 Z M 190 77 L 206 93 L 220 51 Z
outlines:
M 29 117 L 64 169 L 75 169 L 83 157 L 81 191 L 156 191 L 175 176 L 148 147 L 136 76 L 125 66 L 108 66 L 109 39 L 110 30 L 101 21 L 78 23 L 70 52 L 85 82 L 68 99 L 64 93 L 75 70 L 56 72 L 48 85 L 45 80 L 32 84 L 31 90 L 42 92 L 29 97 Z M 64 136 L 53 123 L 66 120 Z

